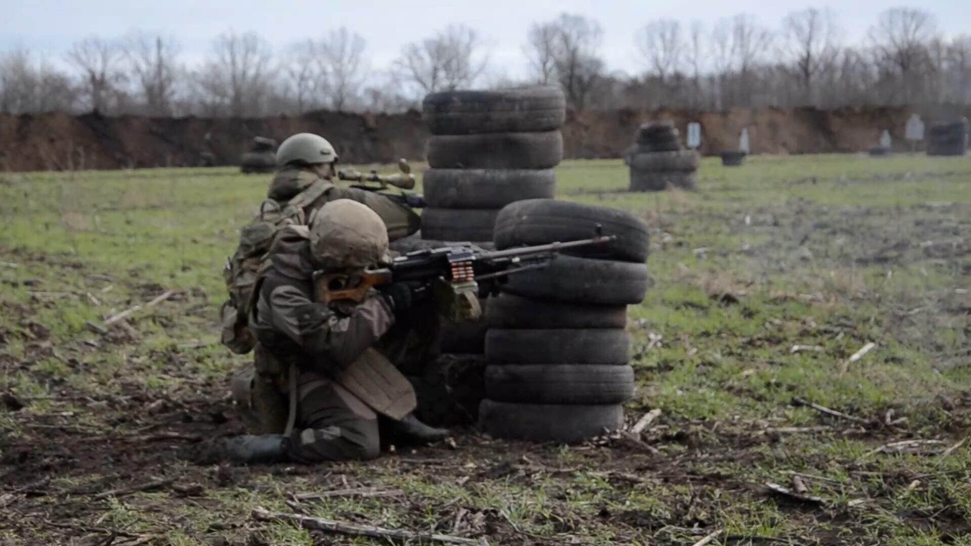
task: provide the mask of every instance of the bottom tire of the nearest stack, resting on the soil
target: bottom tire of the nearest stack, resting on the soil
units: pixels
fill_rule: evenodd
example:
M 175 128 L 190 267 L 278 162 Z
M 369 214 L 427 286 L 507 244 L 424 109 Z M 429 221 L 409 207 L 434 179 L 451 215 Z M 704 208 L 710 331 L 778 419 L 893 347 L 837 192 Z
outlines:
M 479 427 L 493 438 L 574 443 L 623 425 L 619 404 L 515 404 L 485 399 Z

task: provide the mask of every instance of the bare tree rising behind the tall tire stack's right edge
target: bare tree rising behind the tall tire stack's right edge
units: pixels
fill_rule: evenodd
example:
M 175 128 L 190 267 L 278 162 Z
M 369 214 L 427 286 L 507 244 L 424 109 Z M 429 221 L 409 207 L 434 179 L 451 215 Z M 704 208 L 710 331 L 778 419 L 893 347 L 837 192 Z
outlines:
M 563 14 L 534 24 L 526 50 L 537 79 L 549 83 L 554 75 L 567 102 L 583 110 L 604 72 L 603 59 L 597 54 L 602 40 L 603 30 L 597 21 Z

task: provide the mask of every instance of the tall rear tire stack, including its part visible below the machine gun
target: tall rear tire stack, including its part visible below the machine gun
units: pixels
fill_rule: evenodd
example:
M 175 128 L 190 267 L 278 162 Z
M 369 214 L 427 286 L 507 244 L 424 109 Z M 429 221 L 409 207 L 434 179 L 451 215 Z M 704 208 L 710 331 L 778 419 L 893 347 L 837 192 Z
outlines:
M 428 166 L 422 182 L 420 247 L 469 241 L 492 245 L 492 226 L 502 207 L 521 199 L 549 198 L 556 193 L 553 172 L 563 156 L 559 132 L 566 119 L 566 99 L 557 87 L 499 90 L 456 90 L 429 94 L 422 119 L 431 133 Z M 489 301 L 484 300 L 487 310 Z M 485 321 L 441 323 L 442 365 L 424 378 L 431 410 L 419 418 L 434 425 L 464 424 L 475 395 L 475 418 L 482 393 Z M 455 385 L 457 375 L 463 384 Z M 434 391 L 437 389 L 437 391 Z M 443 389 L 448 392 L 443 392 Z M 468 391 L 463 393 L 462 391 Z M 420 405 L 420 404 L 419 404 Z M 474 420 L 472 421 L 474 423 Z

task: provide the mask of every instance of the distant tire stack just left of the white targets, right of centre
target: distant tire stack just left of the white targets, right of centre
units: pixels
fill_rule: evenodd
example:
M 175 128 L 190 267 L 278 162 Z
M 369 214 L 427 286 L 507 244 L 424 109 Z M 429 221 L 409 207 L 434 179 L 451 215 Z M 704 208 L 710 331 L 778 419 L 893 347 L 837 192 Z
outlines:
M 697 188 L 698 154 L 682 148 L 678 129 L 670 121 L 638 127 L 625 162 L 630 167 L 631 191 L 660 191 L 669 186 Z

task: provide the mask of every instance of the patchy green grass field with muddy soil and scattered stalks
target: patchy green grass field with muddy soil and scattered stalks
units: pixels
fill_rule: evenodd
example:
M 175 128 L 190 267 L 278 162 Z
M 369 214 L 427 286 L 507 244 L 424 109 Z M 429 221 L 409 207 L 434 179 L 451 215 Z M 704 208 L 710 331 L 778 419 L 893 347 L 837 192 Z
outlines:
M 0 175 L 0 392 L 16 398 L 0 543 L 381 542 L 253 521 L 263 506 L 492 544 L 971 544 L 971 159 L 706 159 L 697 192 L 627 193 L 626 177 L 619 160 L 558 168 L 559 198 L 653 228 L 626 406 L 630 422 L 661 410 L 649 448 L 467 430 L 369 463 L 247 468 L 182 454 L 241 430 L 226 376 L 247 358 L 218 345 L 219 273 L 269 177 Z M 290 496 L 355 486 L 404 494 Z

